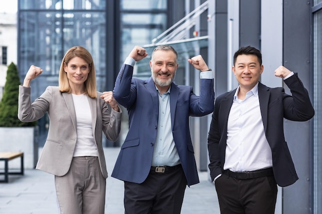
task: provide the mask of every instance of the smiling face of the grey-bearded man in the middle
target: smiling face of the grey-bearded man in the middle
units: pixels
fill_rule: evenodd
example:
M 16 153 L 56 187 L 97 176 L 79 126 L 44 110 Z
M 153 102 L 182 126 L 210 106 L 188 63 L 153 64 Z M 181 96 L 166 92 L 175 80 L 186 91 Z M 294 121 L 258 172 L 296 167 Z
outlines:
M 152 79 L 160 92 L 167 91 L 178 68 L 176 55 L 172 51 L 157 50 L 150 61 Z

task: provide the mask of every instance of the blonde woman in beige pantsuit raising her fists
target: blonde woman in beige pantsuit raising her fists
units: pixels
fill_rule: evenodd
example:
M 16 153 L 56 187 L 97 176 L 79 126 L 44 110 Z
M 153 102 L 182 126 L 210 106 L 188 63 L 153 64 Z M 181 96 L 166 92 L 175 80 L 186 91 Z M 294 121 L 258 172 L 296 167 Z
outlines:
M 46 112 L 49 116 L 48 135 L 36 168 L 55 175 L 60 213 L 103 214 L 108 172 L 102 132 L 108 140 L 117 140 L 121 108 L 112 91 L 96 91 L 93 58 L 83 47 L 65 53 L 59 86 L 48 86 L 31 103 L 30 82 L 42 72 L 32 65 L 19 87 L 21 121 L 39 120 Z

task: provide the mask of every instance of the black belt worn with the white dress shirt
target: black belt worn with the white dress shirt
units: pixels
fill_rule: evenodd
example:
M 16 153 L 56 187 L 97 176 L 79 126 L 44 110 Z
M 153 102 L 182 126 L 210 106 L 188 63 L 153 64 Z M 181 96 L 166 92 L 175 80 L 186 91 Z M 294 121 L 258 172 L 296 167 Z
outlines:
M 228 177 L 236 178 L 236 179 L 254 179 L 266 176 L 274 176 L 273 168 L 260 169 L 256 171 L 245 171 L 245 172 L 234 172 L 230 170 L 224 170 L 224 174 Z

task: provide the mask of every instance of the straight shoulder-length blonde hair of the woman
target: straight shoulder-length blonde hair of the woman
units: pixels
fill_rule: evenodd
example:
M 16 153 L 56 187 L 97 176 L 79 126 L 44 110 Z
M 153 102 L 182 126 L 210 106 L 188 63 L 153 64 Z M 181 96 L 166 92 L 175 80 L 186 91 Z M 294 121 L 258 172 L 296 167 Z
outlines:
M 90 52 L 88 52 L 85 48 L 81 46 L 74 46 L 67 50 L 62 60 L 62 64 L 60 65 L 59 70 L 59 90 L 60 92 L 70 93 L 70 85 L 67 78 L 67 73 L 64 70 L 64 65 L 68 65 L 69 61 L 74 57 L 80 57 L 88 63 L 88 69 L 90 72 L 88 73 L 87 80 L 84 82 L 85 94 L 90 96 L 91 98 L 97 97 L 96 91 L 96 73 L 95 73 L 95 66 L 93 62 L 93 57 Z

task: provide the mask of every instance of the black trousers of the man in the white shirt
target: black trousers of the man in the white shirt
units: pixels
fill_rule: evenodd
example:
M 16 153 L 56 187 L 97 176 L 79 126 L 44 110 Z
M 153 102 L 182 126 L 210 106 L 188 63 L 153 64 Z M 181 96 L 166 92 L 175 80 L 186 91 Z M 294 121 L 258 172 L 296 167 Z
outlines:
M 274 176 L 236 179 L 222 174 L 215 181 L 221 214 L 274 214 L 277 184 Z

